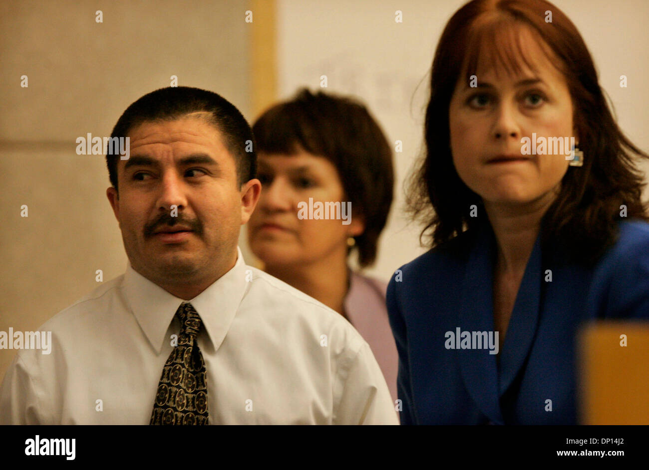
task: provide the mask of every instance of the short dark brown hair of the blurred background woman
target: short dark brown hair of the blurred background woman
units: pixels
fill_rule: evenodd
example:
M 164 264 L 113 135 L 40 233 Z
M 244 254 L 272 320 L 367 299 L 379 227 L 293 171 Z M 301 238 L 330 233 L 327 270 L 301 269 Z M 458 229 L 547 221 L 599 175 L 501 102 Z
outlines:
M 252 125 L 257 152 L 293 155 L 304 150 L 328 159 L 337 169 L 352 203 L 352 217 L 363 217 L 365 231 L 354 237 L 358 263 L 369 266 L 392 205 L 391 147 L 367 108 L 349 97 L 300 89 Z

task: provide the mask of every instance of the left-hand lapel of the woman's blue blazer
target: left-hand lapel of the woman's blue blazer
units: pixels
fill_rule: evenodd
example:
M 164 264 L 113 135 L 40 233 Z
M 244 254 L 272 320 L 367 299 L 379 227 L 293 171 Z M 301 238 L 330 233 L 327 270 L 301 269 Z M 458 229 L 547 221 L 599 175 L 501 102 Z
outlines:
M 493 247 L 491 227 L 483 224 L 476 234 L 463 283 L 458 312 L 461 331 L 493 331 Z M 459 349 L 461 375 L 469 395 L 491 421 L 503 424 L 498 401 L 498 366 L 489 349 Z

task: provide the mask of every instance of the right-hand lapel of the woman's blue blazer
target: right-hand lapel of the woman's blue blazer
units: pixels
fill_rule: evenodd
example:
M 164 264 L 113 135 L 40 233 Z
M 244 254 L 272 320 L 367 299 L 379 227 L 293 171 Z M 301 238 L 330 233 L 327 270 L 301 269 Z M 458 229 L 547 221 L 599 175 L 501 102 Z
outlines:
M 528 357 L 539 322 L 541 298 L 541 237 L 537 237 L 532 254 L 525 267 L 514 309 L 509 318 L 507 334 L 500 351 L 500 387 L 502 396 L 519 373 Z

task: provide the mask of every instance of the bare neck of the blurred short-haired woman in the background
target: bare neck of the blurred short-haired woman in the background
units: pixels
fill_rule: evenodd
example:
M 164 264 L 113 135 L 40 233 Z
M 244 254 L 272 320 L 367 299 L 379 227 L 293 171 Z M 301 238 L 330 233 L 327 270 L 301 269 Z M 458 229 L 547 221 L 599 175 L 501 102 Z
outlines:
M 265 272 L 345 316 L 349 285 L 346 248 L 312 263 L 267 265 Z

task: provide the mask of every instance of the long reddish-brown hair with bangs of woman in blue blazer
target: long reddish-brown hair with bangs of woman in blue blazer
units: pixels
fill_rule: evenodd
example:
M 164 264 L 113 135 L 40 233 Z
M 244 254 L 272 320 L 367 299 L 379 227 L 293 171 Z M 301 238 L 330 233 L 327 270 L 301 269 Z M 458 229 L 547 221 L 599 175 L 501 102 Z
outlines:
M 546 12 L 552 22 L 546 23 Z M 481 57 L 506 68 L 530 69 L 517 30 L 530 30 L 550 62 L 563 74 L 573 104 L 573 121 L 583 151 L 583 167 L 569 167 L 561 191 L 541 221 L 541 242 L 565 241 L 572 260 L 592 266 L 617 239 L 620 206 L 628 218 L 648 220 L 643 204 L 643 175 L 630 152 L 649 158 L 615 123 L 598 84 L 593 59 L 570 19 L 545 0 L 474 0 L 448 21 L 432 63 L 430 102 L 426 108 L 426 152 L 411 175 L 410 212 L 424 224 L 430 246 L 472 231 L 487 217 L 469 217 L 482 198 L 462 182 L 450 150 L 448 110 L 459 79 L 477 75 Z

